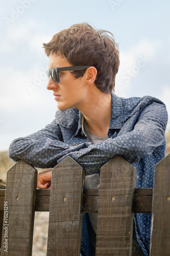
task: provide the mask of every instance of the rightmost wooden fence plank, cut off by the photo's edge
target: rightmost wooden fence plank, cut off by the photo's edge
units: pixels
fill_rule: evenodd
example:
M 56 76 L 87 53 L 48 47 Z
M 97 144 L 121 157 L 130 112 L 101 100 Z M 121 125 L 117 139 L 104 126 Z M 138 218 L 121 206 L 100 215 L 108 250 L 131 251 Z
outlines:
M 155 167 L 150 256 L 170 255 L 170 154 Z

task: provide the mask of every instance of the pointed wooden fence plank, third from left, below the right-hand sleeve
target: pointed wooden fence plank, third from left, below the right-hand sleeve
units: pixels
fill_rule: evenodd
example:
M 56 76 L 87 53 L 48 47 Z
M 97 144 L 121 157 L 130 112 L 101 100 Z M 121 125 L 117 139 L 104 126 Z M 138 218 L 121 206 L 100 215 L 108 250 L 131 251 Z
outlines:
M 101 168 L 96 256 L 131 255 L 136 169 L 122 157 Z

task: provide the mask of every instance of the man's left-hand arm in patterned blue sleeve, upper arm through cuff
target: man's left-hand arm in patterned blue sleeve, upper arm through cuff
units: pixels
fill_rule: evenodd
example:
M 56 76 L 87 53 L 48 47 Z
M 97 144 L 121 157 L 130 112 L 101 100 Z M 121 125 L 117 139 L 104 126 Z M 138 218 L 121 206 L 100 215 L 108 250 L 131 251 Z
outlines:
M 90 143 L 70 146 L 62 142 L 60 126 L 54 120 L 51 124 L 30 136 L 14 140 L 9 147 L 9 157 L 23 160 L 40 168 L 52 168 L 62 155 L 86 148 Z

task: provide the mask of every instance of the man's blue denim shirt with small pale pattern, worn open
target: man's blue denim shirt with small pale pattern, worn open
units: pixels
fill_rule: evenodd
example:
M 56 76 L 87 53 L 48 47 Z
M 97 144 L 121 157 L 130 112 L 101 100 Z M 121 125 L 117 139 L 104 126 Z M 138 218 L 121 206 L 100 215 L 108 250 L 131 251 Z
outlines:
M 55 120 L 44 129 L 14 140 L 9 157 L 48 168 L 70 156 L 84 168 L 86 175 L 91 175 L 99 173 L 101 166 L 119 155 L 136 167 L 136 187 L 153 187 L 155 164 L 165 156 L 166 124 L 167 111 L 162 101 L 151 96 L 125 99 L 113 93 L 108 140 L 86 142 L 79 110 L 58 110 Z M 149 255 L 151 214 L 135 214 L 134 221 L 136 238 L 144 254 Z M 83 239 L 86 241 L 83 237 L 82 250 L 89 255 Z

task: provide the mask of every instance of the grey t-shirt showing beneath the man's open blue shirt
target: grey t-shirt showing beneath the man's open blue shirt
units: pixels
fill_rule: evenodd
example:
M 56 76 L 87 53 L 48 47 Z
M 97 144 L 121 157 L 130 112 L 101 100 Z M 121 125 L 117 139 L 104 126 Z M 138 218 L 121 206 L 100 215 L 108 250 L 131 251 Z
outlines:
M 101 142 L 108 139 L 108 136 L 106 137 L 97 137 L 94 134 L 92 134 L 87 126 L 86 120 L 83 118 L 83 130 L 85 135 L 87 136 L 86 142 L 92 142 L 93 144 L 97 142 Z M 97 188 L 99 185 L 100 180 L 98 174 L 92 174 L 85 176 L 85 188 L 87 189 L 94 189 Z M 91 222 L 91 225 L 94 229 L 94 232 L 96 233 L 97 230 L 97 220 L 98 220 L 98 213 L 97 212 L 89 212 L 89 219 Z

